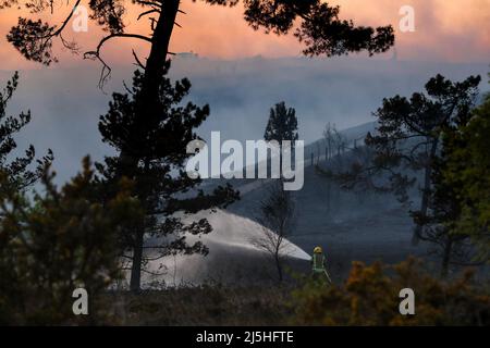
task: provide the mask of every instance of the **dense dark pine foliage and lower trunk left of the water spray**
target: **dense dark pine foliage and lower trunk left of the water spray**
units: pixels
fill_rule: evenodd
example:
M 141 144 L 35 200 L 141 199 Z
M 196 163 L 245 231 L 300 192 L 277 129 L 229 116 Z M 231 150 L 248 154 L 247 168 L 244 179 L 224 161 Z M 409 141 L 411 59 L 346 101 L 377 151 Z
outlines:
M 166 65 L 170 67 L 170 62 Z M 158 89 L 158 112 L 146 117 L 138 116 L 137 108 L 143 98 L 144 74 L 136 71 L 130 94 L 113 94 L 109 112 L 101 116 L 99 129 L 103 141 L 119 153 L 131 151 L 138 159 L 137 165 L 123 167 L 118 157 L 98 164 L 103 173 L 105 187 L 110 190 L 122 175 L 135 183 L 134 194 L 138 197 L 146 216 L 131 233 L 121 236 L 123 257 L 131 260 L 131 288 L 138 290 L 140 274 L 149 272 L 144 266 L 148 260 L 159 260 L 169 254 L 207 254 L 203 243 L 186 243 L 185 234 L 207 234 L 211 226 L 206 219 L 184 224 L 174 213 L 194 213 L 218 206 L 226 206 L 237 199 L 231 186 L 218 187 L 210 195 L 198 191 L 197 197 L 183 196 L 195 188 L 200 181 L 191 178 L 185 172 L 185 161 L 192 156 L 186 152 L 187 144 L 197 139 L 194 129 L 209 115 L 209 107 L 199 108 L 192 102 L 182 105 L 191 83 L 187 79 L 171 84 L 161 79 Z M 186 197 L 186 198 L 184 198 Z M 148 237 L 148 238 L 146 238 Z M 145 240 L 151 239 L 150 241 Z

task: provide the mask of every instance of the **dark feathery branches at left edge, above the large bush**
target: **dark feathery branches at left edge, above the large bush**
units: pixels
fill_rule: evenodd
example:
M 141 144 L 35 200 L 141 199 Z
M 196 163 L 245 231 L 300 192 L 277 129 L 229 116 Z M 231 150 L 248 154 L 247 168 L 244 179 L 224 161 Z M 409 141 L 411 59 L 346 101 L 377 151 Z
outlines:
M 17 148 L 14 135 L 30 122 L 30 111 L 22 112 L 19 116 L 7 114 L 7 104 L 12 98 L 19 85 L 19 73 L 7 83 L 3 91 L 0 92 L 0 172 L 3 172 L 8 181 L 3 181 L 1 189 L 5 186 L 13 186 L 14 189 L 23 190 L 33 185 L 42 174 L 44 166 L 52 161 L 52 152 L 40 160 L 35 160 L 34 146 L 29 146 L 24 157 L 11 159 Z M 33 162 L 37 162 L 37 167 L 30 170 Z

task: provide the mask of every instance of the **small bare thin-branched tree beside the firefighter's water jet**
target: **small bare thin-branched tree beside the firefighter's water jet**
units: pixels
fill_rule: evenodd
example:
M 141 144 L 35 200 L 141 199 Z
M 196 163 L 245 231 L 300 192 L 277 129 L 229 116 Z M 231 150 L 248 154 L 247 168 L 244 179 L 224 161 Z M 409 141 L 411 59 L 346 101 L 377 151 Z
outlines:
M 261 235 L 252 244 L 266 251 L 274 261 L 279 282 L 283 281 L 283 259 L 291 251 L 286 237 L 295 226 L 295 204 L 291 192 L 283 189 L 282 181 L 268 187 L 268 196 L 260 202 L 257 220 L 262 225 Z

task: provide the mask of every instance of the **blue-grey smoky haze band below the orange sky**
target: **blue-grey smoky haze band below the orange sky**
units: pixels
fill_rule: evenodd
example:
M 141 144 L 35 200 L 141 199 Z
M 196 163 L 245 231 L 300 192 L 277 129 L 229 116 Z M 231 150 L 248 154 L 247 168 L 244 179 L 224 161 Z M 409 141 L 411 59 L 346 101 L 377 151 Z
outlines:
M 409 96 L 438 73 L 453 80 L 487 74 L 487 63 L 405 62 L 368 59 L 176 59 L 171 77 L 188 76 L 193 88 L 187 100 L 209 103 L 211 115 L 198 129 L 209 139 L 221 132 L 222 140 L 261 139 L 269 109 L 285 101 L 296 109 L 299 137 L 306 142 L 322 137 L 327 122 L 346 128 L 375 121 L 371 112 L 382 98 Z M 32 122 L 17 137 L 20 148 L 33 144 L 41 154 L 54 151 L 54 167 L 65 179 L 79 170 L 83 156 L 100 160 L 111 152 L 97 128 L 108 110 L 110 91 L 122 91 L 131 66 L 114 66 L 105 95 L 97 88 L 98 69 L 90 66 L 27 70 L 21 72 L 19 90 L 9 113 L 30 109 Z M 11 72 L 0 71 L 0 86 Z M 482 90 L 489 89 L 486 83 Z

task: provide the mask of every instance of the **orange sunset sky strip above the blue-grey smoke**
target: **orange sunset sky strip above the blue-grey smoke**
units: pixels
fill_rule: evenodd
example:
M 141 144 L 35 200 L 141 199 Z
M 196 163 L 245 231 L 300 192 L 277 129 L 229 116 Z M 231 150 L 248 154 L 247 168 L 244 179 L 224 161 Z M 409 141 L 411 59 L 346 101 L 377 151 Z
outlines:
M 73 0 L 72 0 L 73 1 Z M 126 0 L 127 3 L 131 1 Z M 65 3 L 62 1 L 61 3 Z M 342 17 L 353 18 L 356 24 L 392 24 L 396 29 L 399 59 L 437 60 L 450 62 L 490 62 L 490 0 L 336 0 Z M 409 4 L 415 8 L 416 32 L 400 33 L 399 10 Z M 261 54 L 265 57 L 298 55 L 301 45 L 291 35 L 277 37 L 254 32 L 243 20 L 241 7 L 233 9 L 210 7 L 199 1 L 183 0 L 179 23 L 175 28 L 171 50 L 194 51 L 199 55 L 235 59 Z M 60 11 L 61 10 L 61 11 Z M 62 11 L 47 14 L 44 18 L 57 23 Z M 140 11 L 132 7 L 125 17 L 126 30 L 147 33 L 147 22 L 136 22 Z M 9 28 L 15 24 L 17 10 L 0 10 L 0 62 L 1 70 L 36 69 L 38 64 L 26 62 L 4 39 Z M 69 27 L 70 29 L 71 27 Z M 75 39 L 82 51 L 93 49 L 103 33 L 90 23 L 88 33 L 66 32 L 66 38 Z M 60 49 L 56 44 L 61 64 L 79 64 L 81 58 Z M 131 49 L 144 54 L 146 44 L 118 39 L 111 41 L 103 57 L 112 63 L 132 61 Z M 391 55 L 392 53 L 390 53 Z

